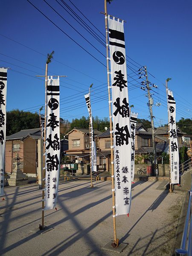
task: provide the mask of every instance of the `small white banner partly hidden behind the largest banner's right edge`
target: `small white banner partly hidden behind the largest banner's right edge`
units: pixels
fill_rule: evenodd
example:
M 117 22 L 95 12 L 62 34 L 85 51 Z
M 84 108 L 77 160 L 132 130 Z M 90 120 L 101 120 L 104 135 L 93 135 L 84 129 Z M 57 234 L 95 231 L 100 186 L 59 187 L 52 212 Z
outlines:
M 138 113 L 131 112 L 130 131 L 131 131 L 131 181 L 134 180 L 135 172 L 135 131 Z

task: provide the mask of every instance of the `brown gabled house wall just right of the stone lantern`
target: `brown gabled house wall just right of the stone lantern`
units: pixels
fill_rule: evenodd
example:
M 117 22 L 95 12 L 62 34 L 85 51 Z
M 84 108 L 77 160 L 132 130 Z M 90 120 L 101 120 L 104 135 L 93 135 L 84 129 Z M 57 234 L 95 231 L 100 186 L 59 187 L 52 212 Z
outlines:
M 36 140 L 28 137 L 23 142 L 23 172 L 36 174 Z

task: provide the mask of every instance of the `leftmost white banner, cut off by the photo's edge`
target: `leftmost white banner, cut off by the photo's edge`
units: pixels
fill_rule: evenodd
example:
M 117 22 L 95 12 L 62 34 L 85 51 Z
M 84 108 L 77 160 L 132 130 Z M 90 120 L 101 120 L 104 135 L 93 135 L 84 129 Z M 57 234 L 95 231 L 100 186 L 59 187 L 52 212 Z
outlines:
M 0 196 L 4 195 L 7 68 L 0 68 Z

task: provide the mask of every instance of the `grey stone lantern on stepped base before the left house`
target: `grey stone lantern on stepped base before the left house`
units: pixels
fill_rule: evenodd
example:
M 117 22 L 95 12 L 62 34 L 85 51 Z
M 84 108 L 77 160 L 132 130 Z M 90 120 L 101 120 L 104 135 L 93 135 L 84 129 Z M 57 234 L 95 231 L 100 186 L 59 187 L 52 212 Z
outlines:
M 19 157 L 19 154 L 17 153 L 16 157 L 13 159 L 17 162 L 12 174 L 10 175 L 10 178 L 8 179 L 9 186 L 21 186 L 28 184 L 28 178 L 19 168 L 20 159 L 22 158 Z

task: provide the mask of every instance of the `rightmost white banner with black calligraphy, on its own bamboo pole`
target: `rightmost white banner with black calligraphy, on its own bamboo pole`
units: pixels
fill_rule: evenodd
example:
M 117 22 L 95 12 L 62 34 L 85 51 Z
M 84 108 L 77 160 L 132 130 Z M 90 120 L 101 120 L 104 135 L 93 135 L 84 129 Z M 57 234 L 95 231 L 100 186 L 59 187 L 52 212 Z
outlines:
M 169 117 L 169 157 L 171 168 L 171 183 L 179 183 L 179 148 L 176 128 L 176 104 L 173 93 L 168 89 L 168 117 Z

